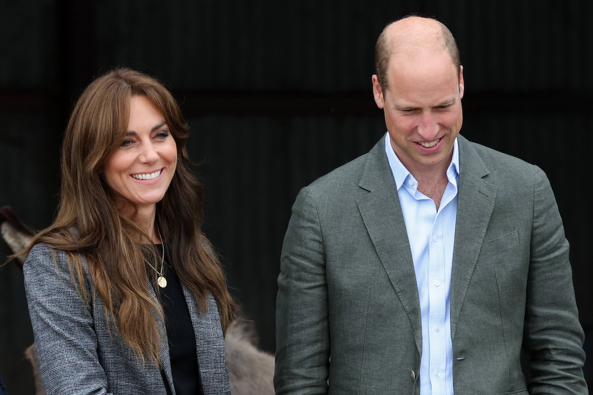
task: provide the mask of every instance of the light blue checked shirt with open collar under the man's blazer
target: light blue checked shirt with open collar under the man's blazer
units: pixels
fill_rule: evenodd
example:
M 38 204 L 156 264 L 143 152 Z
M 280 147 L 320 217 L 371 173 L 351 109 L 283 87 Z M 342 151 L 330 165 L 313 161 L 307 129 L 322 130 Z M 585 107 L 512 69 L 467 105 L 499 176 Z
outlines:
M 451 267 L 457 216 L 459 147 L 447 169 L 449 182 L 438 211 L 435 203 L 417 191 L 418 182 L 397 158 L 385 134 L 385 153 L 393 172 L 401 211 L 416 271 L 422 313 L 420 394 L 453 394 L 453 345 L 451 342 Z

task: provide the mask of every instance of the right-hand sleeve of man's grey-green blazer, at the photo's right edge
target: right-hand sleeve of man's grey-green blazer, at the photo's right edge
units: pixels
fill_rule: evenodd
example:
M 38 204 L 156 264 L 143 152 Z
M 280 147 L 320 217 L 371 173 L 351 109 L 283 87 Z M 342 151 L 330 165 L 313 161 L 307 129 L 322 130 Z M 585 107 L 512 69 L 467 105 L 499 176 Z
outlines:
M 537 167 L 533 213 L 523 341 L 530 394 L 587 394 L 569 245 L 550 182 Z

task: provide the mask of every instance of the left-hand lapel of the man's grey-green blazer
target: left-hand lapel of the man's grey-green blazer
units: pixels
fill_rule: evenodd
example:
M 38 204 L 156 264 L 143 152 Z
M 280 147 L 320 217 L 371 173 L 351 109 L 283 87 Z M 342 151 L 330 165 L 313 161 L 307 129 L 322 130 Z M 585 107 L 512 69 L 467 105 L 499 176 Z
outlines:
M 391 285 L 412 321 L 416 345 L 421 350 L 422 317 L 416 273 L 384 139 L 369 152 L 359 186 L 369 191 L 358 200 L 362 220 Z

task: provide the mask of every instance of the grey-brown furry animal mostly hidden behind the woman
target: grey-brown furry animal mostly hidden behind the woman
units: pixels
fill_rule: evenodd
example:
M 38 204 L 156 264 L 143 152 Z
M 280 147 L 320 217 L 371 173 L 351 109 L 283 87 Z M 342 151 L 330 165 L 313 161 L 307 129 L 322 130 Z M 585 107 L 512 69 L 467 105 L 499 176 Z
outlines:
M 12 253 L 23 251 L 31 242 L 33 232 L 18 219 L 11 207 L 0 208 L 0 235 Z M 17 264 L 23 266 L 26 256 Z M 225 338 L 227 366 L 233 395 L 273 395 L 274 356 L 257 348 L 258 338 L 253 323 L 235 317 Z M 25 350 L 33 366 L 36 395 L 45 395 L 37 351 L 33 343 Z

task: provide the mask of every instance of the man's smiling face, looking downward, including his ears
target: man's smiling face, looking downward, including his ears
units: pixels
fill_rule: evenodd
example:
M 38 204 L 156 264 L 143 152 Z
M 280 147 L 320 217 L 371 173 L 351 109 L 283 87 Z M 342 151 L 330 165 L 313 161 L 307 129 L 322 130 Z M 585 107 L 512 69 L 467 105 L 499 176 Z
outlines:
M 391 146 L 416 177 L 445 172 L 461 124 L 463 68 L 445 51 L 391 58 L 388 88 L 373 76 L 375 102 L 383 108 Z

